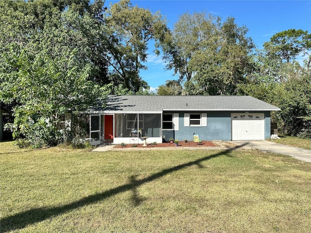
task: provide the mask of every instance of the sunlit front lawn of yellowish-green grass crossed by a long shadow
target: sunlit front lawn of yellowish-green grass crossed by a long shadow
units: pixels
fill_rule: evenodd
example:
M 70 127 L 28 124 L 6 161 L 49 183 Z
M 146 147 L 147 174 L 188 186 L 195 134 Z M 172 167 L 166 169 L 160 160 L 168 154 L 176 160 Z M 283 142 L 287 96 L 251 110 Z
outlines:
M 311 232 L 311 164 L 290 156 L 0 151 L 1 232 Z

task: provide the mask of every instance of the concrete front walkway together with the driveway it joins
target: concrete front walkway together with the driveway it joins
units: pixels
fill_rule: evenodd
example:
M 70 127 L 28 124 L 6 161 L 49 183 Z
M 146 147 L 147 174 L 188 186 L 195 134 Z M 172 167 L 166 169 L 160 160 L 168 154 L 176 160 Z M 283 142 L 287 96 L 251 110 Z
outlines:
M 273 152 L 277 154 L 290 155 L 298 160 L 311 163 L 311 150 L 305 150 L 301 148 L 286 146 L 283 144 L 277 144 L 274 142 L 262 140 L 262 141 L 231 141 L 230 144 L 239 147 L 238 150 L 249 150 L 258 149 L 263 152 Z M 232 150 L 233 148 L 226 148 L 222 145 L 222 142 L 217 143 L 218 147 L 191 147 L 191 148 L 180 148 L 181 150 L 196 150 L 196 149 L 206 149 L 206 150 Z M 114 145 L 101 145 L 95 148 L 93 151 L 108 151 L 108 150 L 138 150 L 138 148 L 127 148 L 127 149 L 114 149 Z M 139 148 L 140 150 L 168 150 L 176 148 Z

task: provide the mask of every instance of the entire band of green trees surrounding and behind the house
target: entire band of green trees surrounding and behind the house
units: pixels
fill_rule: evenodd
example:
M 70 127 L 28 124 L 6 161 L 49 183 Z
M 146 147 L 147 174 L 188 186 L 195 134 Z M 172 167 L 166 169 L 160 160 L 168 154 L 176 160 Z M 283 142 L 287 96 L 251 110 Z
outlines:
M 0 22 L 1 108 L 15 116 L 14 137 L 35 147 L 72 141 L 66 114 L 73 121 L 108 94 L 152 94 L 139 74 L 150 41 L 179 77 L 153 94 L 251 95 L 282 109 L 273 117 L 283 133 L 311 137 L 308 32 L 277 33 L 256 50 L 233 17 L 185 13 L 170 30 L 129 0 L 1 0 Z

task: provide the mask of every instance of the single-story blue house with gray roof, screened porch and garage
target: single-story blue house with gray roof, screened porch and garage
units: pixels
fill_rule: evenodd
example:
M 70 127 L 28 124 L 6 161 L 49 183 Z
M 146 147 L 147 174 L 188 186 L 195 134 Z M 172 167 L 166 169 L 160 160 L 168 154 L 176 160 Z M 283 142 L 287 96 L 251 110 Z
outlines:
M 175 140 L 264 140 L 270 112 L 280 109 L 251 96 L 110 95 L 105 107 L 87 110 L 89 140 L 98 145 Z

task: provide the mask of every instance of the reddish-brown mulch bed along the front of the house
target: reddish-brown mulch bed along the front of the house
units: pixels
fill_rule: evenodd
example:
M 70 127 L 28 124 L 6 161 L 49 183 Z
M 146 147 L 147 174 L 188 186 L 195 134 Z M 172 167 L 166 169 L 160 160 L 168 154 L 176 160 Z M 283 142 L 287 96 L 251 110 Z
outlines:
M 135 146 L 134 146 L 135 145 Z M 174 143 L 158 143 L 156 145 L 148 144 L 147 147 L 143 147 L 143 144 L 125 144 L 125 146 L 115 145 L 114 148 L 163 148 L 163 147 L 176 147 Z M 210 141 L 202 141 L 201 143 L 188 141 L 179 141 L 177 147 L 217 147 L 214 143 Z

